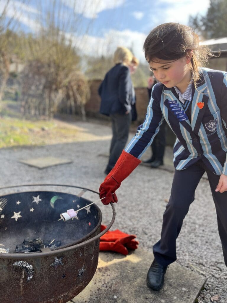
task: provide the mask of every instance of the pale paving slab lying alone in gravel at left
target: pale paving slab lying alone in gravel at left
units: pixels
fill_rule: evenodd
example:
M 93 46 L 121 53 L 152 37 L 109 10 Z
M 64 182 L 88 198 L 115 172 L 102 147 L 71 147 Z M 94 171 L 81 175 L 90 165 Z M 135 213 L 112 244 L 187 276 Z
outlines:
M 56 158 L 56 157 L 39 157 L 39 158 L 30 158 L 25 160 L 19 160 L 19 162 L 27 164 L 29 166 L 34 166 L 37 168 L 46 168 L 50 166 L 72 163 L 71 160 Z

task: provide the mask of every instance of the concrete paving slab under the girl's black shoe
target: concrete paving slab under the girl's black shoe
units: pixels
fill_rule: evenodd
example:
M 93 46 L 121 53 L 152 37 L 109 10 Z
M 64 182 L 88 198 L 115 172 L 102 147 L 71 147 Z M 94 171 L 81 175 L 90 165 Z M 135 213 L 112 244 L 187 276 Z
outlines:
M 130 255 L 100 252 L 96 273 L 74 303 L 193 303 L 206 278 L 177 263 L 169 266 L 160 291 L 146 286 L 153 254 L 138 248 Z

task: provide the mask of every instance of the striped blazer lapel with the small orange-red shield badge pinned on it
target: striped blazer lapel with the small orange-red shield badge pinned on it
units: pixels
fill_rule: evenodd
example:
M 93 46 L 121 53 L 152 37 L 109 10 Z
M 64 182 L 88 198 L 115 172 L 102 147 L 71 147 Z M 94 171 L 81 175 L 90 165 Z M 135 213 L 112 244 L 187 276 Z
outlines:
M 201 76 L 201 80 L 197 82 L 197 88 L 195 89 L 195 86 L 192 88 L 192 131 L 195 134 L 199 132 L 209 99 L 206 82 L 204 81 L 203 75 Z

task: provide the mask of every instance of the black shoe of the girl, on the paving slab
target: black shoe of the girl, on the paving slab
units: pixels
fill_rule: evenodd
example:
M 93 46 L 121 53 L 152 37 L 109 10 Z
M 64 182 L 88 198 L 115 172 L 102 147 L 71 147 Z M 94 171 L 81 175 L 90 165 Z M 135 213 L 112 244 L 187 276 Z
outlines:
M 156 260 L 152 262 L 147 276 L 146 283 L 147 286 L 153 290 L 160 290 L 164 284 L 164 276 L 168 266 L 162 266 Z

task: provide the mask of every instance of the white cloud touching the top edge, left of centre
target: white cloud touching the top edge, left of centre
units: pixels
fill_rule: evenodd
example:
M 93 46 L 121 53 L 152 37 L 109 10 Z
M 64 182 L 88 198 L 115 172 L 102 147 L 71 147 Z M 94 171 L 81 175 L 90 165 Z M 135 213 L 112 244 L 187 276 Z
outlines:
M 98 13 L 106 9 L 123 5 L 125 0 L 62 0 L 62 2 L 70 8 L 74 8 L 75 13 L 94 19 L 97 18 Z

